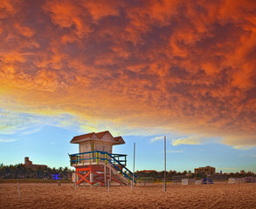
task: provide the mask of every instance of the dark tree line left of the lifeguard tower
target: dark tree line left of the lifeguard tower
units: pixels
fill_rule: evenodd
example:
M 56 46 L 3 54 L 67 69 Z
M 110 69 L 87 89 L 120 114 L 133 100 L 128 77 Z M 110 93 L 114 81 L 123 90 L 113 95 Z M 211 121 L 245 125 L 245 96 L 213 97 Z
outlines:
M 71 179 L 73 170 L 65 167 L 50 168 L 38 167 L 31 169 L 24 164 L 0 165 L 0 179 L 52 179 L 52 175 L 58 174 L 61 179 Z

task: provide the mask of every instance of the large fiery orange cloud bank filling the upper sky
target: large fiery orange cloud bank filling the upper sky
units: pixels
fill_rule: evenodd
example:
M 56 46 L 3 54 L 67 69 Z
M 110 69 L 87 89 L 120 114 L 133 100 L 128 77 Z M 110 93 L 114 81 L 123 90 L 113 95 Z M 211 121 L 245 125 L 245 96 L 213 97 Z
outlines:
M 3 110 L 190 135 L 176 145 L 191 136 L 256 145 L 253 1 L 7 1 L 0 10 Z

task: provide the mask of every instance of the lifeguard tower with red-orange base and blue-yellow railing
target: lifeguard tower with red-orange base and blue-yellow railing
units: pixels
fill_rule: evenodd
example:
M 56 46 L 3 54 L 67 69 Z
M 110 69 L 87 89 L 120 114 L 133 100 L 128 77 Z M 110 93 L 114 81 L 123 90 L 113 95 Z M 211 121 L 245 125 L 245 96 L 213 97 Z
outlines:
M 134 173 L 126 167 L 127 155 L 112 153 L 113 145 L 125 144 L 121 137 L 113 137 L 109 131 L 91 132 L 74 137 L 70 143 L 80 145 L 79 153 L 69 155 L 76 169 L 76 185 L 128 185 L 133 181 Z

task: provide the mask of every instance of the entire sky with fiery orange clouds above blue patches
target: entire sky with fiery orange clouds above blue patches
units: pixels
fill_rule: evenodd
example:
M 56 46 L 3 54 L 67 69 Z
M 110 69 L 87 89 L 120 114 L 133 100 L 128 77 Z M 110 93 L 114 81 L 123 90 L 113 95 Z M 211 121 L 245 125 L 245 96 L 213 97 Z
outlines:
M 256 3 L 1 0 L 0 163 L 69 166 L 121 135 L 128 168 L 256 172 Z

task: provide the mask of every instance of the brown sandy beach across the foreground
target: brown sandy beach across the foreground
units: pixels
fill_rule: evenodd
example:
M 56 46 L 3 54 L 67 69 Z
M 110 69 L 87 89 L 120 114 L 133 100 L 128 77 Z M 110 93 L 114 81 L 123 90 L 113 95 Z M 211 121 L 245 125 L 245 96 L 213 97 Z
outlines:
M 256 208 L 256 184 L 104 186 L 0 184 L 0 208 Z

